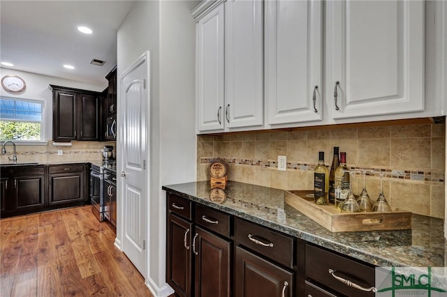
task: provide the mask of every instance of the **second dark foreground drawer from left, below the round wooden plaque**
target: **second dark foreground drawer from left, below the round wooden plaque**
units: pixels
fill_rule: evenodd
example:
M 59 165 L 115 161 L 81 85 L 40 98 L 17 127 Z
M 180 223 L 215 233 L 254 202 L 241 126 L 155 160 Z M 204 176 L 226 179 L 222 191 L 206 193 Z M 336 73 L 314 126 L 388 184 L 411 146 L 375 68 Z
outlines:
M 230 215 L 213 208 L 196 204 L 196 224 L 217 232 L 223 236 L 230 236 Z

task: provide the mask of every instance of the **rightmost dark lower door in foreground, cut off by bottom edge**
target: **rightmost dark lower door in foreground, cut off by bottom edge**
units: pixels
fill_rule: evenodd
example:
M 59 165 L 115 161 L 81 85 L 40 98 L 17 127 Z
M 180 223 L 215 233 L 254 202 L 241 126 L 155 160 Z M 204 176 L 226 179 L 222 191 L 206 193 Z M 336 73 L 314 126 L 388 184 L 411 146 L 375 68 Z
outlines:
M 236 247 L 236 297 L 292 297 L 292 294 L 293 273 L 251 254 L 239 246 Z

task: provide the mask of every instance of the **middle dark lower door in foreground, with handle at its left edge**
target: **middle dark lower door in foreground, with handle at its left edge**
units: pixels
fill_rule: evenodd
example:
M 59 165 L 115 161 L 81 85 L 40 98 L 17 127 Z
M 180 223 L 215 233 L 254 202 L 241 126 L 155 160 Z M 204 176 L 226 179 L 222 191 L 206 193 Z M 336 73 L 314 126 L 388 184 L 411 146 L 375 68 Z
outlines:
M 230 296 L 230 248 L 230 241 L 196 227 L 194 296 Z

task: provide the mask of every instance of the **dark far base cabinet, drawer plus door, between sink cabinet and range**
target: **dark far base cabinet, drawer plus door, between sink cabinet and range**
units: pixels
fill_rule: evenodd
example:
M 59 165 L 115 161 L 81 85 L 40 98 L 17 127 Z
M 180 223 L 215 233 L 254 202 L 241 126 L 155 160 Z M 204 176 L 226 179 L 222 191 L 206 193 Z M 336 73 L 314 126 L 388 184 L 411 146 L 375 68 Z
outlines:
M 85 203 L 88 188 L 84 165 L 52 165 L 48 168 L 49 206 L 73 206 Z

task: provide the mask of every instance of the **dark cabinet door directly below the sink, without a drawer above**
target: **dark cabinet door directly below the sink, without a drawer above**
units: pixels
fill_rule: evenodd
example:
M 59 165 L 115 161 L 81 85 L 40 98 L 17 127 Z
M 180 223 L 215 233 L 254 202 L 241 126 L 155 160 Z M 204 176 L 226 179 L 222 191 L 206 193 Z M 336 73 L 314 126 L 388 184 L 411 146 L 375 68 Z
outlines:
M 13 183 L 16 213 L 27 213 L 45 208 L 44 174 L 15 176 Z

